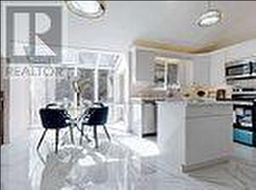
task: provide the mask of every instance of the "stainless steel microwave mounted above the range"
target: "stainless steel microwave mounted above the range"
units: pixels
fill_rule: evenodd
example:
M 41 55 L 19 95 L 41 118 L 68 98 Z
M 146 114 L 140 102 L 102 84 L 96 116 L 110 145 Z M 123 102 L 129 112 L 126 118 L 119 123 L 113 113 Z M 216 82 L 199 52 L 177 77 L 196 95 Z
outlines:
M 227 62 L 225 70 L 227 80 L 256 78 L 256 58 Z

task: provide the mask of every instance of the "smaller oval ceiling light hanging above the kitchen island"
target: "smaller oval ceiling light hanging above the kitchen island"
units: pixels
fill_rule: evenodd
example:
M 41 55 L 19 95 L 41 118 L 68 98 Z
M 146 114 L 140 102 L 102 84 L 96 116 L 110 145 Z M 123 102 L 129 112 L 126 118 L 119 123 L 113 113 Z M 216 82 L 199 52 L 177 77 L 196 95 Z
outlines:
M 201 14 L 197 20 L 197 24 L 200 27 L 214 26 L 221 21 L 222 17 L 222 12 L 216 8 L 212 8 L 211 1 L 207 1 L 207 11 Z

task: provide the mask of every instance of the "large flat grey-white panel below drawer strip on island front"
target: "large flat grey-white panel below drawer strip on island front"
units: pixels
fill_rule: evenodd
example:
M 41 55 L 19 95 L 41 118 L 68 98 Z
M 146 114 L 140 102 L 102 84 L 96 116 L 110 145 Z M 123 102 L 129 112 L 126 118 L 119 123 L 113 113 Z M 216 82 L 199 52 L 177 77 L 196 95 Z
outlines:
M 229 155 L 232 150 L 231 120 L 231 116 L 186 119 L 185 164 Z

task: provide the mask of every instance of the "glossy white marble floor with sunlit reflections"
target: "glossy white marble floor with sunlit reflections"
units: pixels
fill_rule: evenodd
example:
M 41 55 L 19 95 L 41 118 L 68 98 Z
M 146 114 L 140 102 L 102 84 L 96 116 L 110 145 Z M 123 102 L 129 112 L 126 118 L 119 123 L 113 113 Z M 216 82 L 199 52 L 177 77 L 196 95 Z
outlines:
M 112 142 L 102 133 L 95 150 L 85 140 L 72 145 L 67 133 L 56 155 L 54 132 L 36 151 L 40 134 L 29 130 L 26 138 L 1 147 L 1 190 L 256 189 L 254 148 L 234 144 L 226 164 L 184 174 L 159 152 L 155 138 L 112 130 Z M 79 139 L 79 133 L 75 136 Z

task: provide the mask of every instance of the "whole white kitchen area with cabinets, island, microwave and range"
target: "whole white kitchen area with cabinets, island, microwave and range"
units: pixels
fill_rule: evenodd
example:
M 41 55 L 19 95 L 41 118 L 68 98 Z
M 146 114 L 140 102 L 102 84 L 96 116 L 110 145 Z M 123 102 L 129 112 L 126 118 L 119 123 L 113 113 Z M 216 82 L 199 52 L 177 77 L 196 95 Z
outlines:
M 184 171 L 222 162 L 232 152 L 232 141 L 255 147 L 255 49 L 255 40 L 200 55 L 135 45 L 131 131 L 139 137 L 157 136 L 160 149 L 175 150 L 176 158 L 180 152 Z M 191 125 L 191 117 L 201 120 L 190 131 L 182 123 Z M 205 142 L 201 148 L 200 142 Z M 192 155 L 184 161 L 186 149 Z

